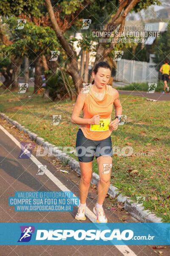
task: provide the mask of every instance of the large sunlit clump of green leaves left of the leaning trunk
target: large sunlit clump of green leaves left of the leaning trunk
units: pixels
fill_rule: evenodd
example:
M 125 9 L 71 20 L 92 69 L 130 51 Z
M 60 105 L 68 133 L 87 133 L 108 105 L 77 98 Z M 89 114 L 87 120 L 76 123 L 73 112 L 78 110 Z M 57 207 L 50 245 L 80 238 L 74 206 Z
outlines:
M 59 50 L 55 32 L 48 26 L 36 26 L 32 22 L 26 22 L 23 29 L 16 29 L 17 20 L 14 17 L 7 19 L 6 24 L 13 39 L 13 44 L 3 47 L 3 52 L 8 56 L 12 52 L 17 57 L 28 55 L 30 59 L 34 59 L 42 54 L 51 54 L 51 50 Z

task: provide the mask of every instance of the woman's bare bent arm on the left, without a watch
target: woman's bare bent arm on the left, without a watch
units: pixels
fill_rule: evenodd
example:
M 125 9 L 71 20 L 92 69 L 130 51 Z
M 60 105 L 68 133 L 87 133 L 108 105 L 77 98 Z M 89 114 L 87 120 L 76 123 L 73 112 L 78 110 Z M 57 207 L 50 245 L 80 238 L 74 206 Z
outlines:
M 83 88 L 82 88 L 83 90 Z M 82 93 L 82 90 L 80 91 L 79 95 L 77 96 L 76 103 L 74 105 L 73 113 L 71 116 L 71 122 L 77 125 L 82 125 L 82 124 L 90 124 L 91 119 L 88 118 L 81 118 L 79 117 L 83 106 L 85 104 L 85 98 L 86 98 L 86 93 Z

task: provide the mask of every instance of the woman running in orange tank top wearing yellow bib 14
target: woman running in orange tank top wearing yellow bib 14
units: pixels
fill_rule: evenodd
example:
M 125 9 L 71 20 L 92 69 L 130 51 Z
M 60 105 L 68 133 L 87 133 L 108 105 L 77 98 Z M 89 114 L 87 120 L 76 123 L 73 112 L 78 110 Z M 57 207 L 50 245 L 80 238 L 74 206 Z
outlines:
M 93 208 L 97 222 L 108 222 L 102 204 L 107 195 L 112 170 L 111 133 L 118 128 L 122 105 L 119 93 L 108 85 L 111 67 L 105 62 L 97 63 L 92 72 L 93 82 L 80 91 L 74 105 L 71 122 L 78 124 L 76 151 L 81 170 L 79 183 L 80 204 L 75 216 L 77 220 L 85 220 L 86 198 L 92 178 L 94 154 L 99 169 L 97 202 Z M 111 121 L 111 113 L 115 108 L 116 117 Z M 83 118 L 79 117 L 83 110 Z

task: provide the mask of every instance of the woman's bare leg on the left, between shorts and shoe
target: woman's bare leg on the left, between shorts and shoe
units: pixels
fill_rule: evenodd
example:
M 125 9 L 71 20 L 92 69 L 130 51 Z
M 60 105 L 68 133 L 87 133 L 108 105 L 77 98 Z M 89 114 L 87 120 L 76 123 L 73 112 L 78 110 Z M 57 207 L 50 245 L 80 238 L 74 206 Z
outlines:
M 81 179 L 79 183 L 79 198 L 80 203 L 85 204 L 92 178 L 93 161 L 88 163 L 79 162 L 79 165 L 81 171 Z

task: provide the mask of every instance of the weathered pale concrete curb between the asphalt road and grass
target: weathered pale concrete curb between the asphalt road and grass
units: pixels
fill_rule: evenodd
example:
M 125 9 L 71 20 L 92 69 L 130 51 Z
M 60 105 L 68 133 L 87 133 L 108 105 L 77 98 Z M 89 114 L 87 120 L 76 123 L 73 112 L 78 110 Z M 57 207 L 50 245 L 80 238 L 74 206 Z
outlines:
M 4 113 L 0 113 L 0 117 L 6 119 L 9 123 L 14 125 L 18 130 L 23 131 L 28 134 L 31 140 L 34 140 L 37 144 L 42 145 L 49 153 L 55 153 L 59 160 L 62 160 L 68 166 L 71 166 L 71 169 L 74 169 L 80 175 L 79 162 L 74 160 L 72 157 L 69 157 L 66 153 L 62 152 L 57 148 L 57 146 L 48 143 L 43 138 L 39 137 L 34 132 L 29 131 L 23 125 L 20 125 L 18 122 L 10 119 Z M 99 182 L 99 175 L 93 172 L 91 183 L 97 185 Z M 134 218 L 141 222 L 153 222 L 160 223 L 161 218 L 158 218 L 155 214 L 150 212 L 149 210 L 145 210 L 142 204 L 136 204 L 129 197 L 124 196 L 120 193 L 119 189 L 113 185 L 110 185 L 108 194 L 115 198 L 117 196 L 117 201 L 124 203 L 124 208 L 126 211 L 130 213 Z

